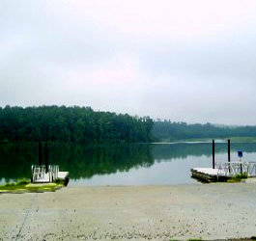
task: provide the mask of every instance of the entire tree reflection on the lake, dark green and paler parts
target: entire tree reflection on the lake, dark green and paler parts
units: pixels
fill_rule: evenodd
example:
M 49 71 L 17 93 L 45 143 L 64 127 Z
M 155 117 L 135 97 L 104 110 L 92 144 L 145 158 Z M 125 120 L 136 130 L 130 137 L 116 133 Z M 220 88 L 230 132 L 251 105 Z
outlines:
M 238 149 L 256 152 L 254 143 L 232 144 L 232 151 Z M 0 144 L 0 179 L 30 177 L 32 164 L 38 164 L 37 143 Z M 216 153 L 226 153 L 226 144 L 216 144 Z M 44 149 L 43 149 L 44 155 Z M 71 179 L 91 178 L 96 174 L 128 172 L 131 168 L 151 167 L 156 162 L 185 159 L 187 156 L 211 157 L 211 144 L 171 145 L 109 145 L 78 146 L 48 144 L 49 164 L 60 165 L 61 170 L 70 172 Z M 43 159 L 44 160 L 44 159 Z

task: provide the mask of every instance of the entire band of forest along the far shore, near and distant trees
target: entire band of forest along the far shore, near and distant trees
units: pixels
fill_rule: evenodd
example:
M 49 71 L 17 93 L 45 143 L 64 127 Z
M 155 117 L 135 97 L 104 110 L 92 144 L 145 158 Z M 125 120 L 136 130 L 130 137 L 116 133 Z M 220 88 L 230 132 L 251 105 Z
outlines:
M 256 137 L 256 126 L 153 121 L 91 107 L 0 107 L 1 142 L 106 144 L 227 137 Z

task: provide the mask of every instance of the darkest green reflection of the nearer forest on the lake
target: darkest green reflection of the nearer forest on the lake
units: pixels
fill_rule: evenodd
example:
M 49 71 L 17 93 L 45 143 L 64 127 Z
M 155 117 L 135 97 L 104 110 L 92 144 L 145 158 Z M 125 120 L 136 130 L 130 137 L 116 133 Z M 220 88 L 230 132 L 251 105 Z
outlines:
M 37 144 L 0 145 L 0 179 L 29 177 L 31 165 L 37 163 Z M 61 170 L 69 171 L 70 177 L 76 179 L 150 167 L 154 159 L 148 145 L 83 147 L 48 144 L 48 163 L 60 165 Z

